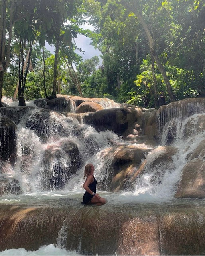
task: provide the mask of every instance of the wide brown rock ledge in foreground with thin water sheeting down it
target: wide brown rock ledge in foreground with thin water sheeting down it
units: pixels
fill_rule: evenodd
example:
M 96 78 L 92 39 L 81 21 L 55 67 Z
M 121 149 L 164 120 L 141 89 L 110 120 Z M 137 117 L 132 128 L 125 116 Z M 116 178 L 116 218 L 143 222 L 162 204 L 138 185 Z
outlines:
M 56 244 L 81 255 L 203 255 L 205 209 L 78 206 L 68 199 L 2 205 L 0 250 Z M 26 234 L 26 235 L 25 235 Z M 62 248 L 61 247 L 61 248 Z

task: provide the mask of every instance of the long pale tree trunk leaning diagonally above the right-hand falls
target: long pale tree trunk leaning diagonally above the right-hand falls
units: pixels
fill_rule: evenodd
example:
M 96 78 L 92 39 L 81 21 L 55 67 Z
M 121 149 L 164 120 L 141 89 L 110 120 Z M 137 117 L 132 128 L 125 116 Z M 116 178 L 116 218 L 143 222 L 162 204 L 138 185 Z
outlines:
M 173 102 L 173 101 L 175 101 L 175 95 L 173 94 L 172 87 L 171 87 L 170 81 L 169 81 L 169 79 L 167 77 L 167 74 L 166 74 L 166 71 L 164 69 L 164 66 L 162 65 L 160 59 L 158 58 L 158 56 L 157 56 L 157 54 L 155 52 L 154 40 L 152 38 L 150 30 L 148 29 L 148 26 L 147 26 L 146 22 L 144 21 L 142 15 L 136 9 L 137 8 L 136 2 L 134 2 L 134 4 L 135 4 L 134 14 L 138 18 L 139 22 L 142 24 L 142 27 L 144 28 L 144 31 L 146 32 L 146 35 L 147 35 L 147 38 L 148 38 L 148 41 L 149 41 L 149 44 L 150 44 L 150 53 L 153 56 L 154 60 L 156 61 L 157 66 L 158 66 L 158 68 L 160 70 L 160 73 L 162 74 L 162 77 L 164 78 L 164 82 L 166 84 L 166 88 L 167 88 L 167 91 L 168 91 L 168 95 L 169 95 L 170 101 Z M 133 10 L 131 10 L 131 12 L 133 12 Z

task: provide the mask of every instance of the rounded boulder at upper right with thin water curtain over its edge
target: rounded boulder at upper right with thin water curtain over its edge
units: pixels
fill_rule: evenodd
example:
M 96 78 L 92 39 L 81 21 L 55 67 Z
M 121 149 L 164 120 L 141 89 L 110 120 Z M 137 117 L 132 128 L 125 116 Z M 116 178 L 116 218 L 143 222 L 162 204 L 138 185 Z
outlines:
M 177 102 L 171 102 L 168 105 L 161 106 L 158 110 L 149 110 L 149 112 L 144 113 L 144 115 L 146 115 L 145 121 L 143 122 L 144 134 L 148 136 L 149 140 L 154 140 L 157 143 L 160 143 L 162 131 L 166 127 L 167 134 L 163 143 L 170 145 L 176 138 L 177 125 L 179 122 L 194 114 L 204 112 L 205 98 L 188 98 Z M 189 120 L 187 123 L 187 131 L 185 129 L 184 136 L 187 137 L 191 135 L 189 132 L 193 130 L 193 125 L 200 131 L 202 123 L 204 127 L 204 117 L 199 118 L 197 124 L 194 120 Z

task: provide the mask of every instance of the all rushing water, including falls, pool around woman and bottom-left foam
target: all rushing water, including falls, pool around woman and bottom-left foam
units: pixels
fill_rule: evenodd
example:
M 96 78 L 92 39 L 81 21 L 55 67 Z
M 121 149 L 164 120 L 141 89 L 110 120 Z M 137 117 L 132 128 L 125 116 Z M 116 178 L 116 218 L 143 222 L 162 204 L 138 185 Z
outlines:
M 16 103 L 14 103 L 16 104 Z M 173 113 L 170 112 L 172 115 Z M 183 118 L 181 114 L 171 116 L 167 122 L 163 121 L 160 138 L 161 145 L 168 143 L 168 134 L 172 133 L 171 146 L 177 148 L 177 153 L 172 156 L 173 161 L 164 166 L 158 163 L 153 168 L 153 162 L 162 154 L 160 146 L 146 156 L 144 174 L 137 179 L 134 191 L 118 193 L 108 192 L 107 181 L 110 176 L 110 166 L 118 145 L 128 145 L 113 132 L 97 132 L 91 126 L 83 124 L 71 116 L 51 112 L 50 119 L 45 119 L 40 133 L 35 130 L 34 124 L 39 122 L 41 111 L 31 108 L 26 115 L 13 116 L 17 124 L 17 160 L 14 165 L 4 163 L 1 179 L 10 180 L 10 186 L 5 194 L 0 197 L 0 204 L 45 205 L 69 203 L 76 208 L 81 207 L 80 202 L 84 190 L 83 172 L 87 163 L 95 166 L 95 177 L 98 182 L 104 182 L 105 191 L 99 194 L 107 199 L 106 207 L 117 211 L 126 205 L 132 205 L 132 210 L 177 207 L 177 204 L 189 204 L 189 200 L 174 199 L 175 191 L 181 178 L 181 170 L 186 164 L 188 156 L 199 143 L 205 139 L 205 131 L 199 126 L 204 114 L 193 113 Z M 160 117 L 162 118 L 162 116 Z M 173 129 L 174 127 L 174 129 Z M 72 159 L 65 157 L 65 142 L 72 142 L 79 149 L 80 164 L 75 168 L 74 174 L 67 177 L 67 170 L 71 170 Z M 132 144 L 152 148 L 144 144 Z M 159 148 L 159 150 L 158 150 Z M 47 153 L 46 153 L 47 152 Z M 49 154 L 49 158 L 46 158 Z M 49 159 L 49 162 L 47 161 Z M 63 187 L 58 189 L 59 180 L 56 176 L 56 166 L 61 170 Z M 152 168 L 152 171 L 150 170 Z M 112 174 L 112 171 L 111 171 Z M 52 182 L 50 181 L 53 179 Z M 20 187 L 20 195 L 10 193 L 15 186 Z M 57 188 L 57 189 L 56 189 Z M 62 200 L 62 201 L 61 201 Z M 197 207 L 204 205 L 204 200 L 192 200 L 191 205 Z M 135 209 L 136 207 L 136 209 Z M 67 226 L 63 225 L 59 231 L 57 244 L 41 246 L 37 251 L 28 251 L 23 248 L 6 250 L 0 255 L 78 255 L 76 251 L 65 250 L 64 240 Z

